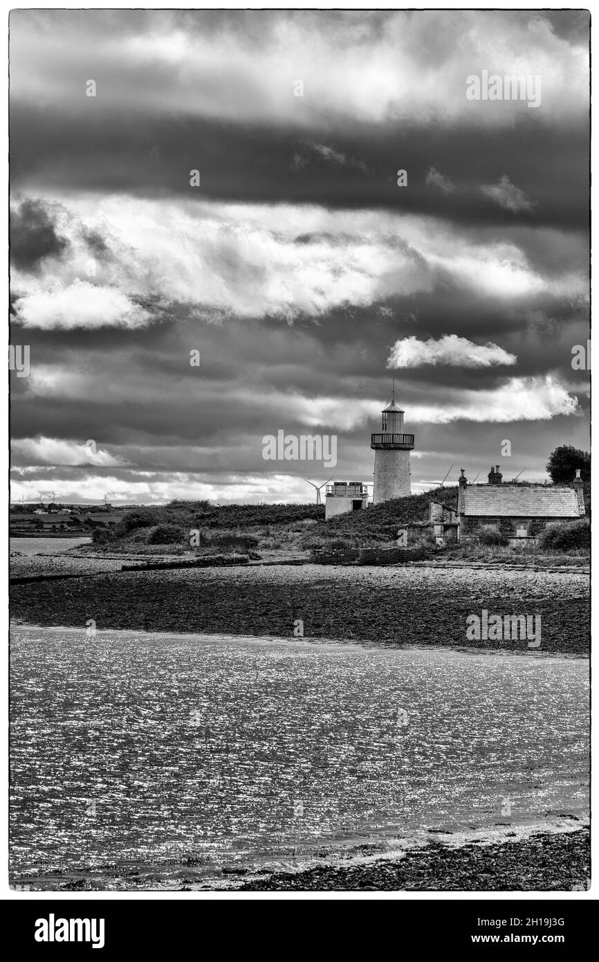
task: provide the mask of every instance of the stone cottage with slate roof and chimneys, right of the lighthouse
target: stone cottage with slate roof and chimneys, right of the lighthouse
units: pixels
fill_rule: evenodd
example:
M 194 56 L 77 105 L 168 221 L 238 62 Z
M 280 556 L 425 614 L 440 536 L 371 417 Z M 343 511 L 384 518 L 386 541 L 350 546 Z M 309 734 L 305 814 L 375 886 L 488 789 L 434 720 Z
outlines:
M 534 540 L 554 521 L 585 516 L 585 494 L 580 470 L 572 487 L 543 484 L 503 484 L 499 466 L 490 469 L 488 484 L 469 485 L 464 477 L 458 489 L 458 538 L 468 541 L 482 530 L 498 531 L 513 546 Z

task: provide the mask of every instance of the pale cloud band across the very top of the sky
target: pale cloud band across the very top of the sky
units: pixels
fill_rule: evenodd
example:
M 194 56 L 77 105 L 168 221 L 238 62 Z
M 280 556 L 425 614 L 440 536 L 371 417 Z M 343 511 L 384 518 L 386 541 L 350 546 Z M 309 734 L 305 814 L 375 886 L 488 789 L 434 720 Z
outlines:
M 512 127 L 531 113 L 525 102 L 465 97 L 481 64 L 542 76 L 536 122 L 587 111 L 587 43 L 557 36 L 541 11 L 15 11 L 11 53 L 12 97 L 69 114 L 92 106 L 305 129 Z M 93 105 L 84 95 L 90 63 Z M 293 95 L 298 79 L 303 97 Z

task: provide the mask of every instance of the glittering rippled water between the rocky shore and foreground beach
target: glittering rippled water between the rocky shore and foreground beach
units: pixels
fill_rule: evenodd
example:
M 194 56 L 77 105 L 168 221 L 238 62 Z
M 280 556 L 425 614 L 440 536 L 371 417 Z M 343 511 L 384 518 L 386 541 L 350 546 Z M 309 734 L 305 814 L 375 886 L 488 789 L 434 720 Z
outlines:
M 11 677 L 17 881 L 210 884 L 587 811 L 582 659 L 27 628 Z

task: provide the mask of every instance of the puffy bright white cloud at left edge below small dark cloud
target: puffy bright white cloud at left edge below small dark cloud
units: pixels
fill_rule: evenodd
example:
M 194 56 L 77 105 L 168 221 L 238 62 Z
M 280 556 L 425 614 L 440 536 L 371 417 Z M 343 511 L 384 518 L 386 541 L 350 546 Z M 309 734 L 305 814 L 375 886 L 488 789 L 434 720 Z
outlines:
M 14 302 L 23 327 L 61 328 L 143 327 L 150 315 L 126 294 L 75 279 L 67 288 L 26 294 Z

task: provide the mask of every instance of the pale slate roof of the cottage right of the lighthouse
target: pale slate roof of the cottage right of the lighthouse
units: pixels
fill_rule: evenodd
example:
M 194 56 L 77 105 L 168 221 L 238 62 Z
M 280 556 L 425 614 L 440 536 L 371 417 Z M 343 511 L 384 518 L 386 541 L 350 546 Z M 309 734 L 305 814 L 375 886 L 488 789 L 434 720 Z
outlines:
M 578 518 L 573 488 L 552 485 L 466 485 L 464 515 L 506 518 Z

